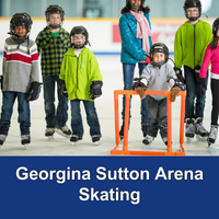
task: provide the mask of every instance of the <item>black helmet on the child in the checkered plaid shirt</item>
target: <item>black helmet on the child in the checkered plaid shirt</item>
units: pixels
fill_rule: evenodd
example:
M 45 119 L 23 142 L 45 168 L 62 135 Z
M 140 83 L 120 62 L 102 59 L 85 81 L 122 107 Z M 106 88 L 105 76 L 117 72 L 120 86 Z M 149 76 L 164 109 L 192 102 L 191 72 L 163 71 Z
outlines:
M 50 24 L 49 22 L 49 16 L 50 14 L 60 14 L 61 15 L 61 23 L 60 24 L 57 24 L 57 25 L 54 25 L 54 24 Z M 58 28 L 60 27 L 62 24 L 64 24 L 64 20 L 65 20 L 65 11 L 64 9 L 58 5 L 58 4 L 53 4 L 53 5 L 49 5 L 46 11 L 45 11 L 45 15 L 46 15 L 46 22 L 47 22 L 47 25 L 50 26 L 51 28 Z

